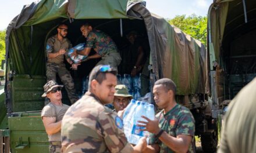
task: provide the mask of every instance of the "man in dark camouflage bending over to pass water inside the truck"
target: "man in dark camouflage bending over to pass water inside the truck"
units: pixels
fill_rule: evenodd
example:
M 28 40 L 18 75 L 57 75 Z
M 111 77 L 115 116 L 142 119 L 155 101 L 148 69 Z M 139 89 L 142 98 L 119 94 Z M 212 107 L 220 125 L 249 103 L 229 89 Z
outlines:
M 80 27 L 80 30 L 86 38 L 86 48 L 80 52 L 76 52 L 75 50 L 72 55 L 75 57 L 77 54 L 88 56 L 91 49 L 94 49 L 96 53 L 88 56 L 86 60 L 101 58 L 101 61 L 96 65 L 108 64 L 117 69 L 122 59 L 118 52 L 118 48 L 111 37 L 102 31 L 93 29 L 93 27 L 88 23 L 83 24 Z

